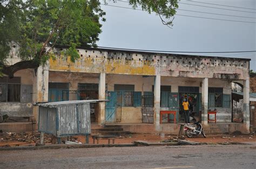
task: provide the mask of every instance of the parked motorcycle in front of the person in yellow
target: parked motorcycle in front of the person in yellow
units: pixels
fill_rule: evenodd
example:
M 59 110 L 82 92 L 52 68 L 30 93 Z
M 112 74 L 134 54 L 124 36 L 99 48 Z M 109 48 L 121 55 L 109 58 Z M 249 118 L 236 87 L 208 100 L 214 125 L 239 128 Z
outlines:
M 188 138 L 192 138 L 198 135 L 203 135 L 206 138 L 203 126 L 199 122 L 193 124 L 185 124 L 184 131 Z

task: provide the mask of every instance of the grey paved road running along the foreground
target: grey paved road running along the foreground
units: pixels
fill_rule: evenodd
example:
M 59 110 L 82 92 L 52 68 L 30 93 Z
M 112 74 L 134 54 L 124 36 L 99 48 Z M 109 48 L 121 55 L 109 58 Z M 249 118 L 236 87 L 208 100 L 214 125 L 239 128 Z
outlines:
M 256 144 L 0 151 L 0 168 L 256 168 Z

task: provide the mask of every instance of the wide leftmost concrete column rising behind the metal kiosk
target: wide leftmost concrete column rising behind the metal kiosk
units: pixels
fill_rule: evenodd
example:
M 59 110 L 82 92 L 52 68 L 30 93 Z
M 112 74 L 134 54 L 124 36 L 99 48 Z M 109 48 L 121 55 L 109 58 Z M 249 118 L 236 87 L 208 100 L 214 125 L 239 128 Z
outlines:
M 36 75 L 36 102 L 48 102 L 49 67 L 39 66 Z

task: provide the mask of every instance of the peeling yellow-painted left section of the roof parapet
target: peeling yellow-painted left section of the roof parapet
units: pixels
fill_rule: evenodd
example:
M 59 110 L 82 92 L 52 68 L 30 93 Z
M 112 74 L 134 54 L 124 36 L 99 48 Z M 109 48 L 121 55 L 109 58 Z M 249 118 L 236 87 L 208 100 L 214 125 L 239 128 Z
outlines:
M 154 75 L 156 69 L 149 62 L 142 64 L 139 61 L 133 60 L 106 60 L 85 58 L 79 59 L 75 63 L 68 58 L 50 59 L 50 71 L 70 71 L 70 72 L 85 72 L 85 73 L 105 73 L 111 74 L 134 74 L 134 75 Z

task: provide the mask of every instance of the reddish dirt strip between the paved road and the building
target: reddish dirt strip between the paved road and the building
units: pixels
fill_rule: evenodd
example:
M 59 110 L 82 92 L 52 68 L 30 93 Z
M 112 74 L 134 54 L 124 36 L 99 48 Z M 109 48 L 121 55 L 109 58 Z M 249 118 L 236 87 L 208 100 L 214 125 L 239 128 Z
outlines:
M 37 137 L 39 136 L 37 135 Z M 171 139 L 171 138 L 177 138 L 177 135 L 160 136 L 156 134 L 131 133 L 126 136 L 116 137 L 116 139 L 114 140 L 114 143 L 115 144 L 133 143 L 134 141 L 138 141 L 138 140 L 144 140 L 150 143 L 159 143 L 164 139 Z M 256 142 L 256 135 L 254 134 L 253 135 L 235 135 L 235 134 L 234 135 L 232 134 L 207 135 L 206 138 L 203 138 L 203 136 L 187 138 L 185 136 L 184 138 L 186 140 L 191 140 L 193 142 L 201 142 L 201 143 Z M 76 136 L 76 137 L 73 137 L 73 140 L 76 140 L 76 142 L 85 143 L 85 136 Z M 93 139 L 91 137 L 89 139 L 89 143 L 90 144 L 93 143 Z M 45 144 L 51 144 L 51 142 L 49 141 L 49 138 L 46 139 Z M 100 139 L 99 144 L 107 144 L 107 139 Z M 0 135 L 0 147 L 1 146 L 5 146 L 5 147 L 6 146 L 35 146 L 35 145 L 36 145 L 36 142 L 26 142 L 26 140 L 24 139 L 22 142 L 16 139 L 12 139 L 10 141 L 6 139 L 6 135 L 3 135 L 3 134 Z

